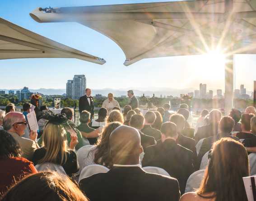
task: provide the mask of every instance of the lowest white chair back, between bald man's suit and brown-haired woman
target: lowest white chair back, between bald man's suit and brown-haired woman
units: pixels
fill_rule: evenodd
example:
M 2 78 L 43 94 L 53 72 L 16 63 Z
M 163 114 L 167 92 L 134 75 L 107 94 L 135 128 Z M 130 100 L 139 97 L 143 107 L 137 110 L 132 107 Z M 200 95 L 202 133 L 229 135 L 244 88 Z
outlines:
M 200 169 L 192 173 L 186 181 L 186 192 L 195 192 L 197 188 L 200 187 L 200 184 L 204 178 L 205 169 Z

